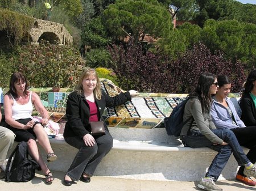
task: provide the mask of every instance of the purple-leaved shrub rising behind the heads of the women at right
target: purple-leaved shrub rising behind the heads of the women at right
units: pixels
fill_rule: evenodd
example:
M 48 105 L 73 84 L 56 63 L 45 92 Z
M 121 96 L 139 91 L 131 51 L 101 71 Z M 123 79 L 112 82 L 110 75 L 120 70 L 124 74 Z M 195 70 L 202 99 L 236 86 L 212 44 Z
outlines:
M 233 79 L 232 91 L 239 92 L 246 79 L 244 67 L 241 62 L 232 63 L 225 60 L 224 54 L 210 49 L 204 44 L 193 45 L 179 60 L 172 62 L 171 75 L 175 78 L 176 92 L 191 92 L 197 85 L 200 74 L 209 72 L 216 75 L 228 75 Z

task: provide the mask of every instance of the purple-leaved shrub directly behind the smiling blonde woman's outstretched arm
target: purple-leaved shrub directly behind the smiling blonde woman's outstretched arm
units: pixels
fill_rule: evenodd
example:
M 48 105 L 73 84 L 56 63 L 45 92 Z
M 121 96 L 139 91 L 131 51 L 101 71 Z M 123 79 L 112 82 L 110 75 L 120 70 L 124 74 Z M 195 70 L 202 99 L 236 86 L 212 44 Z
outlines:
M 109 47 L 113 61 L 117 66 L 119 86 L 123 90 L 140 92 L 170 92 L 172 78 L 168 70 L 167 59 L 152 52 L 143 52 L 141 45 L 129 41 L 127 48 L 123 45 Z

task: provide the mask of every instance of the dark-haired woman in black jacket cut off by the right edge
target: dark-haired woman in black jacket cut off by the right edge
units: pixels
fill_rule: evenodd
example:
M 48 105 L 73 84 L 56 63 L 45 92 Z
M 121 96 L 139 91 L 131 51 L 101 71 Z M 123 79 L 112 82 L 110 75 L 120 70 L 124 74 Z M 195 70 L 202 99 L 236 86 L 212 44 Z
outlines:
M 256 70 L 251 70 L 241 92 L 241 120 L 246 126 L 256 126 Z

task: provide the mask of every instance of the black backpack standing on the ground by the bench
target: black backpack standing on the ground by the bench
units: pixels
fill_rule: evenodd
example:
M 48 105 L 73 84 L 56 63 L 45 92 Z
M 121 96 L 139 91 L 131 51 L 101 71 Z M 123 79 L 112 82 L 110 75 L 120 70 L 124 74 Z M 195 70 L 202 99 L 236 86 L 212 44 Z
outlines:
M 15 155 L 15 156 L 14 156 Z M 13 164 L 10 164 L 13 159 Z M 14 151 L 9 156 L 5 169 L 5 181 L 7 182 L 27 182 L 34 178 L 35 169 L 39 169 L 39 164 L 33 159 L 28 159 L 27 142 L 19 142 Z

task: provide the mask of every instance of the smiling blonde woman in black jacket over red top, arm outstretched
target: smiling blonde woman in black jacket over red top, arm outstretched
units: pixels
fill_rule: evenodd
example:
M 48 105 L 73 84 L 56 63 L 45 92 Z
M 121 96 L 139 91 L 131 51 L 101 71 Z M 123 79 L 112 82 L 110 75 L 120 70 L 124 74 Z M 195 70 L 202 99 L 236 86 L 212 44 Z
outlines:
M 105 107 L 123 104 L 136 95 L 137 91 L 130 90 L 110 97 L 101 92 L 100 80 L 94 69 L 88 68 L 81 74 L 76 90 L 69 94 L 67 101 L 68 122 L 64 138 L 79 151 L 64 177 L 64 185 L 71 186 L 73 181 L 79 180 L 90 182 L 97 165 L 113 146 L 113 138 L 102 119 Z M 106 133 L 93 136 L 89 126 L 92 121 L 104 121 Z

